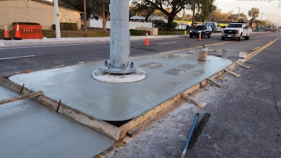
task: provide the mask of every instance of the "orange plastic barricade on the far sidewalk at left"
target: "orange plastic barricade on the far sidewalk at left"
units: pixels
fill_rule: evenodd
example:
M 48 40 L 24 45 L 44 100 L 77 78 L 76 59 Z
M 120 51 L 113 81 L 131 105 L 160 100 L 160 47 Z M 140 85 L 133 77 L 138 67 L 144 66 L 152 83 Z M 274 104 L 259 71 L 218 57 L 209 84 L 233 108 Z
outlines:
M 41 25 L 19 25 L 20 37 L 23 39 L 43 39 L 41 32 Z M 17 25 L 13 26 L 13 29 L 17 29 Z

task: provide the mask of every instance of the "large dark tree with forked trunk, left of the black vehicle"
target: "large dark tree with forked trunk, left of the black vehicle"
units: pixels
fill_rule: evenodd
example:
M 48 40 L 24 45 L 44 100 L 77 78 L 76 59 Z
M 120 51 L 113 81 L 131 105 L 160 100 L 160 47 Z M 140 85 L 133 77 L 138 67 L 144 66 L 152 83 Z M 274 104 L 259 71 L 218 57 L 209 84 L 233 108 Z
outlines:
M 175 19 L 175 15 L 177 15 L 177 13 L 182 11 L 182 9 L 185 9 L 191 0 L 140 0 L 140 1 L 142 1 L 142 3 L 144 4 L 154 7 L 159 11 L 162 11 L 165 15 L 167 15 L 168 16 L 167 29 L 171 30 L 173 27 L 173 21 Z M 167 11 L 166 8 L 170 8 L 170 11 Z

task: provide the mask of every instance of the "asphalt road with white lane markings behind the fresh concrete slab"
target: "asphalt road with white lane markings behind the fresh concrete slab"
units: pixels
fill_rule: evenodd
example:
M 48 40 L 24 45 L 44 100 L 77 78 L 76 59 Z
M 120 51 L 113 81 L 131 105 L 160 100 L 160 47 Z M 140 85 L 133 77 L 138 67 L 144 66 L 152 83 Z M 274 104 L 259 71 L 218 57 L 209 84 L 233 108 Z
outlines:
M 240 50 L 245 51 L 264 45 L 273 39 L 275 39 L 275 34 L 257 34 L 249 41 L 220 41 L 220 35 L 213 34 L 210 39 L 203 38 L 202 41 L 197 41 L 196 38 L 190 39 L 189 37 L 150 40 L 150 46 L 144 46 L 144 41 L 131 41 L 130 55 L 151 55 L 182 48 L 192 49 L 202 44 L 227 44 L 224 48 L 233 50 L 239 50 L 240 48 Z M 8 76 L 27 70 L 37 71 L 61 65 L 67 66 L 83 62 L 108 60 L 108 58 L 109 42 L 2 47 L 0 48 L 0 76 Z

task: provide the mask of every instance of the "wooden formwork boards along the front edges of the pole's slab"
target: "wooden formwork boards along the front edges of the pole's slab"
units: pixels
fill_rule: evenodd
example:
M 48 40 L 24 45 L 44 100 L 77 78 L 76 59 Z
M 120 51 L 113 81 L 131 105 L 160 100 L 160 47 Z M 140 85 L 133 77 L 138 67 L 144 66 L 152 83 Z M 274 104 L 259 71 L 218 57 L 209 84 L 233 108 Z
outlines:
M 227 70 L 234 70 L 236 65 L 236 62 L 234 62 L 232 65 L 227 67 Z M 226 74 L 227 73 L 225 72 L 225 70 L 221 70 L 220 72 L 214 74 L 208 79 L 217 80 L 221 77 L 224 77 Z M 185 103 L 185 101 L 187 101 L 187 98 L 182 97 L 182 94 L 186 94 L 192 97 L 196 95 L 196 93 L 203 91 L 205 88 L 211 85 L 208 79 L 199 81 L 198 84 L 187 88 L 185 91 L 178 93 L 172 98 L 169 98 L 165 102 L 160 103 L 153 109 L 145 112 L 144 114 L 140 115 L 139 117 L 136 117 L 135 119 L 128 121 L 120 127 L 113 126 L 112 124 L 108 124 L 106 121 L 102 121 L 100 119 L 91 117 L 88 114 L 80 112 L 79 110 L 75 110 L 73 109 L 73 107 L 61 103 L 61 101 L 44 96 L 44 94 L 42 94 L 41 96 L 37 96 L 33 99 L 36 100 L 38 103 L 49 107 L 51 110 L 54 110 L 71 119 L 74 119 L 75 121 L 78 121 L 81 124 L 84 124 L 85 126 L 89 126 L 90 128 L 99 131 L 100 133 L 103 133 L 108 137 L 111 137 L 115 140 L 120 140 L 127 135 L 135 136 L 135 134 L 137 134 L 139 131 L 142 131 L 146 128 L 146 126 L 163 117 L 165 114 L 170 112 L 170 110 L 173 110 L 175 107 L 181 105 L 182 103 Z M 22 91 L 21 94 L 23 95 L 35 93 L 34 91 L 20 86 L 18 84 L 15 84 L 13 83 L 13 81 L 4 79 L 3 77 L 0 77 L 0 85 L 6 88 L 10 88 L 11 90 L 18 93 Z

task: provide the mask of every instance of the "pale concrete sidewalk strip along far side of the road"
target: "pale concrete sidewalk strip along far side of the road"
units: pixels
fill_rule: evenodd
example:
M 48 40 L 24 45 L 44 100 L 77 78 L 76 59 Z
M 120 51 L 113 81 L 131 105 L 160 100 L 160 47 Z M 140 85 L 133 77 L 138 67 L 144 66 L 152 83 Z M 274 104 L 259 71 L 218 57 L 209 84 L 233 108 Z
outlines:
M 149 36 L 149 39 L 170 39 L 170 38 L 184 38 L 188 35 L 163 35 L 163 36 Z M 143 40 L 144 36 L 131 37 L 132 41 Z M 30 46 L 30 45 L 46 45 L 46 44 L 78 44 L 91 42 L 108 42 L 110 37 L 70 37 L 70 38 L 51 38 L 44 37 L 43 39 L 23 39 L 23 40 L 0 40 L 1 46 Z

